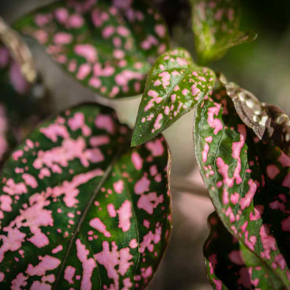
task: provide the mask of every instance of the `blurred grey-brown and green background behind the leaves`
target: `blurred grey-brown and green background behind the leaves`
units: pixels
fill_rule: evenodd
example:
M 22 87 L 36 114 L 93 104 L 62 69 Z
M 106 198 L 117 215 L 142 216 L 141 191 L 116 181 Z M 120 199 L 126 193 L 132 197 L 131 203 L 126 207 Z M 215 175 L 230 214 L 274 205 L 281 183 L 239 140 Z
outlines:
M 51 0 L 1 0 L 0 16 L 12 23 L 21 15 Z M 195 57 L 189 0 L 151 0 L 163 14 L 171 46 L 183 46 Z M 254 93 L 261 101 L 275 104 L 290 115 L 290 1 L 241 0 L 241 30 L 254 30 L 258 38 L 250 44 L 231 48 L 221 60 L 210 64 L 229 81 Z M 52 95 L 51 110 L 97 101 L 113 107 L 121 122 L 133 128 L 141 96 L 108 100 L 94 95 L 66 76 L 32 39 L 25 39 L 32 50 L 44 83 Z M 148 289 L 209 290 L 202 246 L 209 233 L 206 218 L 213 211 L 207 197 L 195 195 L 203 186 L 193 151 L 193 114 L 184 115 L 164 131 L 172 153 L 173 182 L 193 184 L 191 192 L 172 189 L 173 234 L 168 251 Z

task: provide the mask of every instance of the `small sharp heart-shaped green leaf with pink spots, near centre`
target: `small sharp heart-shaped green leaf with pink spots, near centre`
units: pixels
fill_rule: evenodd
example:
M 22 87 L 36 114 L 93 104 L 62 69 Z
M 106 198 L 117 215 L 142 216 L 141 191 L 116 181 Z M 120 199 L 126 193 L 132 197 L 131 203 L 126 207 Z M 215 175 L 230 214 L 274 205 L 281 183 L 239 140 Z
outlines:
M 131 145 L 142 144 L 171 126 L 202 101 L 214 83 L 213 71 L 194 64 L 183 48 L 160 55 L 146 79 Z

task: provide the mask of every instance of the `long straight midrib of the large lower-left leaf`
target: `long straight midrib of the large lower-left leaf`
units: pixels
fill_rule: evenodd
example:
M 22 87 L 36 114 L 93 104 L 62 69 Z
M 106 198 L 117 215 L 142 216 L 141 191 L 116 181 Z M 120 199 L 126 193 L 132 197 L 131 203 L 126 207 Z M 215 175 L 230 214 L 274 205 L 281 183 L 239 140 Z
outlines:
M 129 131 L 131 134 L 131 131 Z M 128 137 L 128 136 L 126 136 Z M 127 139 L 127 138 L 126 138 Z M 130 139 L 130 138 L 129 138 Z M 111 161 L 111 163 L 109 164 L 108 168 L 106 169 L 106 171 L 104 172 L 104 175 L 102 176 L 99 184 L 97 185 L 97 188 L 95 189 L 93 195 L 90 197 L 88 204 L 84 210 L 84 212 L 81 214 L 81 218 L 79 220 L 79 223 L 77 224 L 75 231 L 73 232 L 71 238 L 70 238 L 70 242 L 68 245 L 68 249 L 66 250 L 65 256 L 63 258 L 63 260 L 61 261 L 61 267 L 58 271 L 57 277 L 55 279 L 55 283 L 52 287 L 52 290 L 57 290 L 57 284 L 59 282 L 59 280 L 61 279 L 61 273 L 66 265 L 66 261 L 68 259 L 68 255 L 70 253 L 70 250 L 73 247 L 73 242 L 77 236 L 77 234 L 80 232 L 81 229 L 81 225 L 84 222 L 86 215 L 90 209 L 90 206 L 93 204 L 95 197 L 97 196 L 97 193 L 99 192 L 99 190 L 101 189 L 102 185 L 104 184 L 104 182 L 106 181 L 107 177 L 109 176 L 109 174 L 111 173 L 113 166 L 117 163 L 117 161 L 119 160 L 119 157 L 128 150 L 128 148 L 130 148 L 130 144 L 125 142 L 124 144 L 122 144 L 122 146 L 119 148 L 119 150 L 117 151 L 115 157 L 113 158 L 113 160 Z

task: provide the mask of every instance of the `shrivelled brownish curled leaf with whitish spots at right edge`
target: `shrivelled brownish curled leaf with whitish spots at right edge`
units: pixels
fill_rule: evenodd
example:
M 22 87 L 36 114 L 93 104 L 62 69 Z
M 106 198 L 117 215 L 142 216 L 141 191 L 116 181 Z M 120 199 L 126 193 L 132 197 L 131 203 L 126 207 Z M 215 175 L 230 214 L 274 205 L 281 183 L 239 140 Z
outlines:
M 223 75 L 219 78 L 244 124 L 253 129 L 260 140 L 275 144 L 290 156 L 290 119 L 287 114 L 277 106 L 260 103 L 251 92 L 227 82 Z

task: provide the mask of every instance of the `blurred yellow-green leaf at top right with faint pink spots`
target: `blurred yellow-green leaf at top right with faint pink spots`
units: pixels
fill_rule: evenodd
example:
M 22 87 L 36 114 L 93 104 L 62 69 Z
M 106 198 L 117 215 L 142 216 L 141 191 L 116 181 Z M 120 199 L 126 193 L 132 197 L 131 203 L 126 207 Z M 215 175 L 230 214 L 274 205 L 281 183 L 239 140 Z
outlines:
M 241 8 L 238 0 L 191 0 L 193 32 L 199 63 L 223 57 L 231 46 L 251 42 L 255 32 L 239 31 Z

